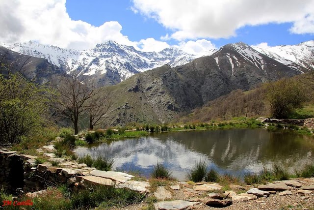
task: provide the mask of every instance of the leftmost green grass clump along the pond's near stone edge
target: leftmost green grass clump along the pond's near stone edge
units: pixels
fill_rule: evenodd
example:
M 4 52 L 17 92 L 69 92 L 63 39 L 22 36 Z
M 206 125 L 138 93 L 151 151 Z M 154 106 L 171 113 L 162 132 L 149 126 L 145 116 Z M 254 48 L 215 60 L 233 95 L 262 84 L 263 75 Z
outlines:
M 97 156 L 94 159 L 87 154 L 82 157 L 78 157 L 78 163 L 85 163 L 88 167 L 95 167 L 98 170 L 110 171 L 114 164 L 114 159 L 107 156 Z

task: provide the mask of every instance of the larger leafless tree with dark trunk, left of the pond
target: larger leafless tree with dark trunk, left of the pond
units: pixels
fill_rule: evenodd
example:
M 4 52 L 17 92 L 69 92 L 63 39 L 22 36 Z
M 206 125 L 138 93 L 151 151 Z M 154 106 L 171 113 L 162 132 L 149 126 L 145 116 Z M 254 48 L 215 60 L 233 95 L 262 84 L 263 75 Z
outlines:
M 52 108 L 73 122 L 77 134 L 78 118 L 88 108 L 88 101 L 97 93 L 95 83 L 87 79 L 79 81 L 78 75 L 73 73 L 54 78 L 52 87 L 55 90 L 52 95 Z

